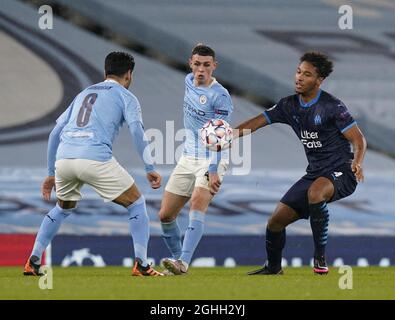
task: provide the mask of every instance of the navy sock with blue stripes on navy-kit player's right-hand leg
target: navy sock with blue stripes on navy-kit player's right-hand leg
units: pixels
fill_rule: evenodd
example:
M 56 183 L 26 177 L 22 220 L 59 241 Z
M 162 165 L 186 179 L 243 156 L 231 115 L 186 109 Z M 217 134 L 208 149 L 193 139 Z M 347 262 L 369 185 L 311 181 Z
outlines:
M 325 256 L 328 240 L 329 214 L 326 202 L 310 203 L 310 225 L 314 238 L 314 257 Z

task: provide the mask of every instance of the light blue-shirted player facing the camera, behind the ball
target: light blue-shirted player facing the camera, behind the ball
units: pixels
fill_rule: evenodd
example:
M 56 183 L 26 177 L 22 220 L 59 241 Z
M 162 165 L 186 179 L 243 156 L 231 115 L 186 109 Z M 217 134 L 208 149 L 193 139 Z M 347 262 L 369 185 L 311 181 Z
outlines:
M 219 191 L 227 170 L 228 150 L 210 153 L 199 138 L 199 129 L 210 119 L 230 121 L 233 111 L 229 92 L 212 76 L 217 67 L 215 52 L 198 44 L 189 59 L 192 73 L 185 78 L 184 152 L 166 185 L 159 218 L 162 237 L 172 259 L 164 259 L 167 274 L 187 273 L 192 255 L 203 235 L 205 213 Z M 190 200 L 189 226 L 181 243 L 177 216 Z

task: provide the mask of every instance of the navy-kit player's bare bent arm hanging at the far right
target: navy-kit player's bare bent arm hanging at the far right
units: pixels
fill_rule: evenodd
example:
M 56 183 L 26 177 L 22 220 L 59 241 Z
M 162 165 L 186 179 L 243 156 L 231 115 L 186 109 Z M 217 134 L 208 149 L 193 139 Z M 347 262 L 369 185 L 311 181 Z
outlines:
M 343 135 L 351 142 L 354 152 L 354 160 L 351 164 L 351 169 L 355 174 L 358 182 L 364 179 L 362 162 L 366 152 L 366 139 L 357 125 L 352 126 Z

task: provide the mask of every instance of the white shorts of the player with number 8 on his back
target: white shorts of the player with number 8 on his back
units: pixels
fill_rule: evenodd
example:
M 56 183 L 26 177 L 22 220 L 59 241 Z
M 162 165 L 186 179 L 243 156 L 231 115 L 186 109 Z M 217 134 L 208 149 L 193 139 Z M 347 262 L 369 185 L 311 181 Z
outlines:
M 118 198 L 133 184 L 132 176 L 112 158 L 106 162 L 61 159 L 55 163 L 56 196 L 63 201 L 79 201 L 84 184 L 90 185 L 105 202 Z

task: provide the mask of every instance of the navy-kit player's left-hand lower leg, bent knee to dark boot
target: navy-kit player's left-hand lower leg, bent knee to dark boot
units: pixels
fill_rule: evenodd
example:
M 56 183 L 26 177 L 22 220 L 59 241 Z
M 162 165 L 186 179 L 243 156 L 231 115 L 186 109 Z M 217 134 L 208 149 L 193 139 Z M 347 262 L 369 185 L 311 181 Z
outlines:
M 267 263 L 248 275 L 282 274 L 281 259 L 285 246 L 285 228 L 300 217 L 294 209 L 279 202 L 266 226 Z

